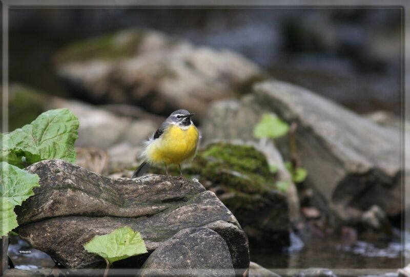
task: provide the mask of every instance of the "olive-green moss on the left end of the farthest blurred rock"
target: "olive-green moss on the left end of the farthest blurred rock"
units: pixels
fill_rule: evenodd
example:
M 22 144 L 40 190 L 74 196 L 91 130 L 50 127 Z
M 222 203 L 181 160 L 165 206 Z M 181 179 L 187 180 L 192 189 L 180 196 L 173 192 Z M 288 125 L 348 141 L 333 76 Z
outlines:
M 90 59 L 114 59 L 136 53 L 144 31 L 110 33 L 84 41 L 74 42 L 55 56 L 57 63 Z M 121 37 L 122 36 L 122 37 Z

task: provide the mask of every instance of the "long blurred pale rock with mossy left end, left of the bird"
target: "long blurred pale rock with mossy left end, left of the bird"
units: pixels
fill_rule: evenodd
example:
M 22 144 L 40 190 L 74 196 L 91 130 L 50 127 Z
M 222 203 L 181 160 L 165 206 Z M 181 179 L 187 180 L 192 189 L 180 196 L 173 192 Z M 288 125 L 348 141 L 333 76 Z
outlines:
M 47 110 L 68 108 L 80 121 L 79 137 L 75 145 L 100 150 L 108 150 L 122 142 L 127 142 L 130 146 L 141 146 L 156 131 L 161 120 L 144 111 L 140 111 L 139 118 L 118 116 L 95 105 L 49 96 L 20 84 L 10 86 L 9 105 L 10 130 L 29 124 Z M 138 110 L 137 107 L 134 108 Z M 127 109 L 132 110 L 129 106 Z

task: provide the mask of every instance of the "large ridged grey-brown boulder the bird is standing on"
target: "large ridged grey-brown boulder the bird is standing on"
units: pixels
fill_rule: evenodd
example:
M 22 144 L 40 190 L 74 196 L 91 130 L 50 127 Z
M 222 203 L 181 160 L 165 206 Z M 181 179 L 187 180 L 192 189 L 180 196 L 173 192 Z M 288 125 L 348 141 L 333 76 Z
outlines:
M 16 207 L 17 232 L 66 267 L 104 266 L 83 245 L 121 226 L 139 231 L 149 253 L 182 229 L 206 226 L 227 243 L 235 269 L 249 266 L 248 241 L 236 218 L 195 180 L 111 179 L 62 160 L 38 162 L 27 170 L 38 174 L 40 187 Z M 138 267 L 149 253 L 122 263 Z

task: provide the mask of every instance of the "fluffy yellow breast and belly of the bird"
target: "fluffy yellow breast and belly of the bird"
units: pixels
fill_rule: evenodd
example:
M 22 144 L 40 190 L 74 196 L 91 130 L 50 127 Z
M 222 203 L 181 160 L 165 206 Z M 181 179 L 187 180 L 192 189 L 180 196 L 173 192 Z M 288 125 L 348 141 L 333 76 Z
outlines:
M 195 155 L 198 138 L 194 125 L 187 130 L 171 125 L 160 138 L 147 146 L 145 156 L 151 163 L 179 164 Z

